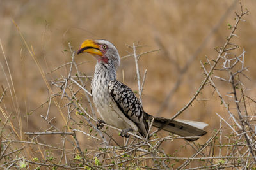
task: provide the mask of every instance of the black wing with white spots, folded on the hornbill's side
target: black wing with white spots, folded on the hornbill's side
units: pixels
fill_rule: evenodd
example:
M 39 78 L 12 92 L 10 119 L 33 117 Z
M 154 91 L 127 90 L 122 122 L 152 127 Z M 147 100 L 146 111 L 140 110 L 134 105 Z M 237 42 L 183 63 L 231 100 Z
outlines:
M 134 92 L 127 85 L 117 80 L 108 83 L 108 92 L 125 117 L 132 120 L 137 125 L 140 134 L 146 137 L 148 132 L 148 118 Z

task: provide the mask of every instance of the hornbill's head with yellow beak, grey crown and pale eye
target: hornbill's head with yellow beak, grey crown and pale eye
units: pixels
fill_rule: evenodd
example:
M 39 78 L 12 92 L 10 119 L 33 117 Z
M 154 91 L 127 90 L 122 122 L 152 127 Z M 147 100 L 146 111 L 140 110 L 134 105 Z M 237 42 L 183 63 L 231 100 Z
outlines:
M 77 54 L 84 52 L 91 53 L 99 63 L 113 64 L 115 68 L 120 65 L 119 53 L 109 41 L 87 39 L 81 44 Z

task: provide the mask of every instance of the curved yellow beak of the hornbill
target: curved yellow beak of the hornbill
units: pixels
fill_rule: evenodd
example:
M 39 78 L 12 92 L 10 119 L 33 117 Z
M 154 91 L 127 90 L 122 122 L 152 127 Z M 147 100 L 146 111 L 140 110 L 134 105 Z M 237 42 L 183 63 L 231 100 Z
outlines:
M 77 54 L 79 53 L 92 53 L 93 55 L 99 55 L 102 56 L 103 53 L 100 51 L 99 45 L 95 43 L 95 41 L 91 39 L 86 39 L 80 46 Z

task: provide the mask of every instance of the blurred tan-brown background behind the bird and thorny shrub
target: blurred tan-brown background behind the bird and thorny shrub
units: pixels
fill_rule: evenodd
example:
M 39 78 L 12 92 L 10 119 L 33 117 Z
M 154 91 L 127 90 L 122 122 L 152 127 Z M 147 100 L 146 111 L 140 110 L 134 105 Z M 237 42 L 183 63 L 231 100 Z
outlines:
M 242 22 L 237 30 L 239 38 L 236 38 L 236 43 L 241 47 L 237 50 L 237 55 L 243 48 L 246 50 L 246 66 L 250 69 L 247 75 L 251 79 L 246 81 L 246 87 L 250 89 L 248 91 L 250 97 L 256 99 L 254 55 L 256 53 L 256 1 L 243 1 L 243 6 L 248 8 L 250 15 L 246 16 L 246 22 Z M 21 115 L 22 121 L 17 121 L 17 129 L 22 127 L 24 132 L 36 132 L 44 131 L 47 127 L 40 117 L 40 114 L 45 115 L 47 106 L 36 110 L 32 115 L 26 115 L 47 101 L 49 92 L 12 20 L 19 25 L 28 45 L 33 46 L 35 56 L 44 73 L 49 73 L 52 69 L 70 62 L 68 42 L 74 50 L 77 50 L 84 39 L 107 39 L 115 44 L 120 56 L 128 55 L 127 51 L 131 52 L 126 45 L 132 45 L 132 43 L 139 42 L 140 45 L 145 45 L 138 50 L 138 53 L 159 49 L 159 52 L 143 55 L 139 62 L 141 76 L 145 69 L 148 70 L 143 90 L 143 106 L 145 111 L 152 115 L 172 117 L 196 92 L 204 79 L 199 61 L 204 62 L 205 55 L 210 59 L 216 57 L 214 48 L 225 43 L 225 38 L 230 32 L 227 24 L 234 24 L 234 11 L 239 12 L 239 10 L 237 1 L 231 0 L 1 0 L 0 38 L 10 67 L 15 93 L 13 89 L 8 88 L 0 106 L 5 113 Z M 79 69 L 88 76 L 92 76 L 95 60 L 88 54 L 76 57 L 77 63 L 84 60 L 92 62 L 79 66 Z M 188 60 L 191 60 L 191 63 L 182 75 L 179 70 L 186 66 Z M 3 52 L 0 53 L 0 62 L 3 66 L 0 83 L 3 87 L 8 87 L 11 79 Z M 61 78 L 61 75 L 67 76 L 68 69 L 69 67 L 65 67 L 60 71 L 47 74 L 47 80 Z M 132 57 L 122 59 L 118 70 L 118 80 L 121 81 L 122 69 L 125 83 L 133 90 L 137 90 L 134 59 Z M 166 96 L 179 78 L 181 81 L 178 88 L 168 99 L 167 106 L 160 110 Z M 220 83 L 220 85 L 223 85 L 223 92 L 228 89 L 227 84 Z M 10 90 L 17 99 L 11 96 Z M 218 96 L 212 95 L 210 87 L 205 87 L 198 98 L 209 99 L 209 101 L 195 101 L 193 107 L 182 113 L 179 118 L 207 122 L 209 124 L 207 131 L 210 136 L 213 129 L 219 127 L 220 118 L 215 112 L 223 117 L 227 115 L 223 113 L 224 109 L 221 108 L 223 106 L 220 105 Z M 52 108 L 50 115 L 57 117 L 54 124 L 58 124 L 60 120 L 58 111 Z M 1 118 L 3 119 L 3 116 Z M 63 126 L 63 123 L 59 124 Z M 203 140 L 206 139 L 203 138 Z M 170 145 L 168 147 L 171 150 L 172 147 Z

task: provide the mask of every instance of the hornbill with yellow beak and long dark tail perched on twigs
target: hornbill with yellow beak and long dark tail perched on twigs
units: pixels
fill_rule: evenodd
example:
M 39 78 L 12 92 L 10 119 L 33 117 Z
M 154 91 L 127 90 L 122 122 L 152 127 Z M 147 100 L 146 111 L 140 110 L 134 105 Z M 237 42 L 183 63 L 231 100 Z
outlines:
M 188 141 L 195 141 L 207 133 L 204 122 L 172 120 L 146 113 L 132 89 L 116 80 L 120 55 L 113 43 L 104 39 L 86 39 L 77 50 L 77 55 L 80 53 L 90 53 L 97 59 L 91 82 L 93 103 L 101 117 L 97 120 L 97 129 L 102 129 L 105 123 L 122 129 L 122 137 L 129 137 L 128 132 L 136 132 L 147 138 L 153 121 L 154 127 L 185 137 Z

